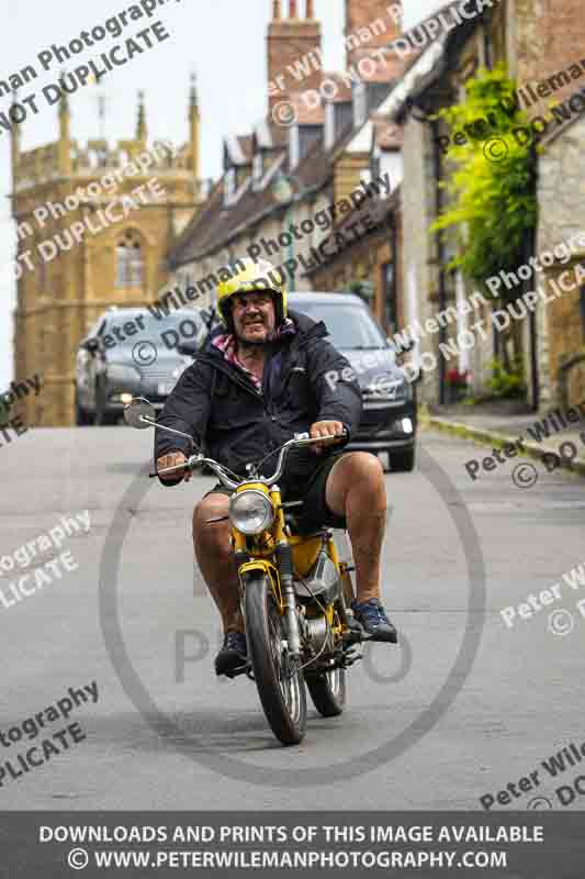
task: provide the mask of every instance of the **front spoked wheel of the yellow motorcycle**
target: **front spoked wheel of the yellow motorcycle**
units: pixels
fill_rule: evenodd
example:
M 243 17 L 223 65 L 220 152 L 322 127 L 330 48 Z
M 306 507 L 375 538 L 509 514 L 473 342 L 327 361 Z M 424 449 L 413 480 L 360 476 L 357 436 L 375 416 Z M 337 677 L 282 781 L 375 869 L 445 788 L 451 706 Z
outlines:
M 297 745 L 306 726 L 305 682 L 288 655 L 284 617 L 266 575 L 246 585 L 246 634 L 258 694 L 272 732 L 283 745 Z

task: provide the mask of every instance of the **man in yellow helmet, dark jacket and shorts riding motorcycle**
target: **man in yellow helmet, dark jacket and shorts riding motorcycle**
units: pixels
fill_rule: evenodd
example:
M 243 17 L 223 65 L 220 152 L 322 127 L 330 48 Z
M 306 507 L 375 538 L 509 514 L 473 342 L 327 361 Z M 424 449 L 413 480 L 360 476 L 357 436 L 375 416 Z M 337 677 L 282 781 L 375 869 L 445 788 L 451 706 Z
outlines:
M 339 436 L 339 446 L 346 445 L 358 429 L 362 401 L 348 360 L 326 340 L 325 324 L 288 311 L 283 281 L 270 263 L 241 263 L 244 269 L 217 288 L 223 326 L 211 333 L 182 374 L 158 422 L 193 436 L 214 459 L 245 476 L 246 463 L 263 458 L 294 433 Z M 334 389 L 325 379 L 331 371 L 338 377 Z M 157 470 L 184 463 L 191 453 L 187 439 L 165 431 L 156 432 L 155 442 Z M 271 456 L 260 471 L 267 475 L 273 468 Z M 160 476 L 167 485 L 183 478 L 191 474 Z M 348 530 L 356 565 L 355 619 L 373 641 L 395 644 L 396 630 L 380 602 L 386 496 L 378 458 L 336 446 L 295 449 L 280 486 L 284 501 L 304 501 L 304 526 Z M 217 675 L 241 666 L 247 655 L 224 519 L 229 494 L 217 485 L 193 513 L 195 557 L 224 625 Z

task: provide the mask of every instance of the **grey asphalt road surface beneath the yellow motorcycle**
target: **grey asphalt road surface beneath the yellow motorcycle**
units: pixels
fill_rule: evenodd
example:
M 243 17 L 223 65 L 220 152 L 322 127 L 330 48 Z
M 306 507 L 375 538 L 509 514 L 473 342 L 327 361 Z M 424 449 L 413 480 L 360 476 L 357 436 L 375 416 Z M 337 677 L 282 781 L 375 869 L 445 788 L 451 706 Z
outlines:
M 14 576 L 0 577 L 0 732 L 40 712 L 45 723 L 4 738 L 2 766 L 67 724 L 85 735 L 69 733 L 67 747 L 53 738 L 45 761 L 16 778 L 4 770 L 2 808 L 479 809 L 581 745 L 585 585 L 580 594 L 562 574 L 585 557 L 585 483 L 537 464 L 538 483 L 520 489 L 514 461 L 471 482 L 464 461 L 481 449 L 420 438 L 421 469 L 386 476 L 383 594 L 402 649 L 370 646 L 349 672 L 346 712 L 323 720 L 311 709 L 296 748 L 272 737 L 251 681 L 213 674 L 218 617 L 193 570 L 190 516 L 215 480 L 164 489 L 140 478 L 153 436 L 122 426 L 35 430 L 0 449 L 5 566 L 60 516 L 90 515 L 89 532 L 31 563 L 69 552 L 75 570 L 38 591 L 29 580 L 31 594 L 12 603 Z M 506 627 L 502 609 L 558 581 L 555 603 Z M 550 622 L 560 609 L 572 612 L 564 635 L 550 631 L 571 625 Z M 97 702 L 46 719 L 68 688 L 92 682 Z M 503 808 L 533 806 L 537 794 L 561 808 L 554 790 L 577 772 L 555 780 L 541 768 L 538 786 L 515 788 Z

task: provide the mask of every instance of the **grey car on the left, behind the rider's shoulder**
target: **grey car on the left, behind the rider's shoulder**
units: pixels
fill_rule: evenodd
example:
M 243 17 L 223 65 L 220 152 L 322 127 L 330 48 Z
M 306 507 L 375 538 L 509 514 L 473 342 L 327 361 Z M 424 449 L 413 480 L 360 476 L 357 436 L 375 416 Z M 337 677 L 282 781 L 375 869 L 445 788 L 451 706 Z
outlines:
M 77 424 L 115 423 L 133 397 L 147 397 L 162 408 L 192 363 L 187 352 L 196 349 L 206 334 L 201 309 L 178 309 L 160 318 L 146 308 L 109 309 L 77 352 Z

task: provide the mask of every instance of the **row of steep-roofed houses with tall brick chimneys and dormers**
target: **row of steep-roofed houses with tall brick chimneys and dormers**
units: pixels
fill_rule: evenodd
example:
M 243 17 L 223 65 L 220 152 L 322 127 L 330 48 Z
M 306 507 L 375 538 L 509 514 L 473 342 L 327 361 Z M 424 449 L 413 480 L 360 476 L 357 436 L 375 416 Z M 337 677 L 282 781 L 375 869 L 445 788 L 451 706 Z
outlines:
M 396 15 L 400 3 L 392 8 Z M 291 288 L 315 289 L 312 268 L 327 264 L 319 247 L 345 223 L 352 193 L 370 185 L 371 136 L 355 149 L 348 144 L 400 76 L 403 64 L 384 55 L 400 21 L 389 15 L 385 0 L 346 0 L 348 70 L 328 73 L 313 2 L 289 0 L 288 13 L 274 0 L 267 37 L 269 113 L 251 135 L 225 140 L 223 178 L 169 253 L 173 282 L 195 286 L 201 303 L 210 301 L 222 269 L 247 255 L 270 259 Z M 375 64 L 373 52 L 382 53 Z M 384 173 L 380 155 L 378 160 Z M 333 205 L 339 205 L 335 218 Z

